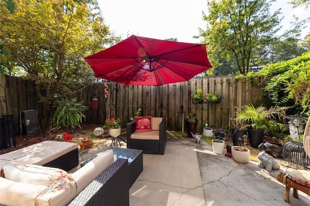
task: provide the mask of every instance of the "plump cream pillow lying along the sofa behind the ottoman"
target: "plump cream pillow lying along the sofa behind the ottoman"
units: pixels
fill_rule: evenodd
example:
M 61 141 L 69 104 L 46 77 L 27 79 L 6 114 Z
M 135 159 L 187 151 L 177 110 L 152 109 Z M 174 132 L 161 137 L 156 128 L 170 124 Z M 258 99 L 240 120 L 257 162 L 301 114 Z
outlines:
M 8 164 L 3 168 L 4 177 L 16 182 L 50 186 L 60 177 L 66 177 L 67 172 L 52 167 L 32 164 Z

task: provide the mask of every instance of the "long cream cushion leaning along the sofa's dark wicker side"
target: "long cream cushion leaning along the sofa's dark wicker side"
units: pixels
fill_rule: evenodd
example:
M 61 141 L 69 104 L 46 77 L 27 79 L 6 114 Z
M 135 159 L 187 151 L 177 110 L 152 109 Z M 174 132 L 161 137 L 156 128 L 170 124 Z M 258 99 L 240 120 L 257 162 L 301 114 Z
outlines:
M 89 185 L 96 177 L 106 170 L 114 162 L 112 149 L 102 152 L 92 161 L 82 166 L 78 171 L 71 174 L 77 184 L 78 193 Z

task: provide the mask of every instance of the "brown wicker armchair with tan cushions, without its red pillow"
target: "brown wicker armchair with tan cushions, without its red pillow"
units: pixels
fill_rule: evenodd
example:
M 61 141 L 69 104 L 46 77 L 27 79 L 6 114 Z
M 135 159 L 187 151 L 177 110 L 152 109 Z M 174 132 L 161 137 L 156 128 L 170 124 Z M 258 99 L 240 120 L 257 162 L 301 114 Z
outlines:
M 127 129 L 127 148 L 141 149 L 143 153 L 164 154 L 167 145 L 166 120 L 151 118 L 150 132 L 137 132 L 136 121 L 129 122 Z

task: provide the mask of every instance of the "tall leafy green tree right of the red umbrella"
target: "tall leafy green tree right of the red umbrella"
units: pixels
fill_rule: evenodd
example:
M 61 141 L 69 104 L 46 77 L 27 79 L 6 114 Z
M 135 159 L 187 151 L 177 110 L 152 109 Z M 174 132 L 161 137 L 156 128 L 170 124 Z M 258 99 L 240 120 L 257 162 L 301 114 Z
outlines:
M 269 13 L 274 1 L 211 1 L 209 14 L 203 15 L 207 28 L 199 35 L 207 45 L 210 62 L 220 65 L 218 59 L 234 59 L 240 74 L 247 74 L 253 65 L 254 49 L 269 44 L 279 30 L 279 10 Z

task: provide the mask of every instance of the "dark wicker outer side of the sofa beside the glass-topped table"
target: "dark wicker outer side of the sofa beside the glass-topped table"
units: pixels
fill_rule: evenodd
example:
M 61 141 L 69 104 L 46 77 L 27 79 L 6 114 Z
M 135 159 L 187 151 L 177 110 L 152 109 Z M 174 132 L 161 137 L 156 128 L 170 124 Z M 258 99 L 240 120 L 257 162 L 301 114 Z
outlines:
M 68 206 L 129 206 L 128 160 L 117 159 Z

